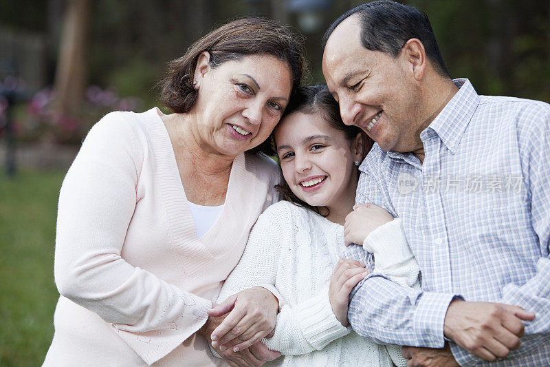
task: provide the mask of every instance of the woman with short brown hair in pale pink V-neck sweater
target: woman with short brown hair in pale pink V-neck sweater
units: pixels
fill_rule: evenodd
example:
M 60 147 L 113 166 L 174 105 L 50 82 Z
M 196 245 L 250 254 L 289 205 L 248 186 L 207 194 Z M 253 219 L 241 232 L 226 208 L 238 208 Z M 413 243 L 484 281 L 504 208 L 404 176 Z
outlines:
M 113 112 L 91 129 L 59 198 L 45 366 L 220 364 L 206 311 L 276 201 L 276 165 L 254 150 L 300 83 L 299 49 L 273 21 L 233 21 L 170 64 L 162 97 L 175 113 Z M 261 364 L 248 349 L 223 356 Z

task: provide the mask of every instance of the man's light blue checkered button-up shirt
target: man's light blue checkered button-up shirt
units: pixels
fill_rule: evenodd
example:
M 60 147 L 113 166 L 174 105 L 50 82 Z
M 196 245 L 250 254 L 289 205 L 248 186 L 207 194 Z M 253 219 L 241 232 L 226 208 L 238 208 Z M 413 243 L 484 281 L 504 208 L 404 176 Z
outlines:
M 423 164 L 378 145 L 360 166 L 356 202 L 403 219 L 422 290 L 369 275 L 351 293 L 349 321 L 375 342 L 442 348 L 453 299 L 536 313 L 518 350 L 492 366 L 550 366 L 550 105 L 478 96 L 467 79 L 420 134 Z M 373 266 L 352 245 L 343 254 Z M 450 342 L 461 366 L 481 359 Z

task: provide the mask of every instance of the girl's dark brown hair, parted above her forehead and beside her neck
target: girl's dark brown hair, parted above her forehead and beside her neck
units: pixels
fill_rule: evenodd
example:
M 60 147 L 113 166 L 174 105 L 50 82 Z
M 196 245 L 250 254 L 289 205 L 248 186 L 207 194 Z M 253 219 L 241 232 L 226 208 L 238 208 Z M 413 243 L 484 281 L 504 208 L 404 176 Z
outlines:
M 295 112 L 301 112 L 303 114 L 316 114 L 317 112 L 321 113 L 323 120 L 328 123 L 333 129 L 336 129 L 344 133 L 346 139 L 351 143 L 357 134 L 361 134 L 361 140 L 363 145 L 363 156 L 364 158 L 367 153 L 373 147 L 373 140 L 365 134 L 365 132 L 356 126 L 345 125 L 340 116 L 340 107 L 335 101 L 333 96 L 329 92 L 329 88 L 326 84 L 314 85 L 310 87 L 299 87 L 296 90 L 296 94 L 292 97 L 281 120 L 289 114 L 294 114 Z M 276 142 L 275 142 L 276 143 Z M 276 190 L 281 194 L 283 200 L 298 205 L 298 207 L 305 207 L 321 216 L 329 215 L 329 208 L 327 207 L 314 207 L 307 202 L 300 200 L 296 196 L 286 181 L 281 185 L 276 185 Z

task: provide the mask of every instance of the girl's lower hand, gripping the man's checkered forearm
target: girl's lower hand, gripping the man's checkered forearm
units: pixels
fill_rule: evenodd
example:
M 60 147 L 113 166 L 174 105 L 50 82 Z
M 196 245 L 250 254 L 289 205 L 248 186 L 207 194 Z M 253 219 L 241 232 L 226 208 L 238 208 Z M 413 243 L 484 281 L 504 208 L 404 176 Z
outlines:
M 349 293 L 369 273 L 371 271 L 357 260 L 338 260 L 331 276 L 329 300 L 332 312 L 343 326 L 348 326 Z

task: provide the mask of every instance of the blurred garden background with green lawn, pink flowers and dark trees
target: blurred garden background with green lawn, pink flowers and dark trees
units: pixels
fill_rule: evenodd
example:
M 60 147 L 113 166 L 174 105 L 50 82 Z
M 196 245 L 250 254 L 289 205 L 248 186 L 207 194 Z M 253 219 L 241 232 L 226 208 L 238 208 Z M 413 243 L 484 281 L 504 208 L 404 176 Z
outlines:
M 50 345 L 56 202 L 91 127 L 157 105 L 166 62 L 236 17 L 320 40 L 352 0 L 0 1 L 0 366 L 37 366 Z M 550 1 L 407 0 L 430 18 L 453 77 L 479 94 L 550 102 Z M 165 110 L 165 112 L 168 112 Z

